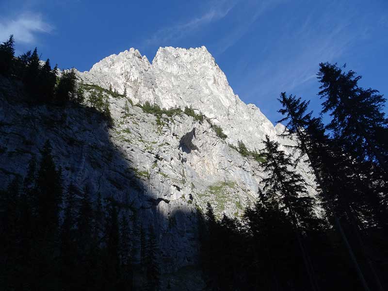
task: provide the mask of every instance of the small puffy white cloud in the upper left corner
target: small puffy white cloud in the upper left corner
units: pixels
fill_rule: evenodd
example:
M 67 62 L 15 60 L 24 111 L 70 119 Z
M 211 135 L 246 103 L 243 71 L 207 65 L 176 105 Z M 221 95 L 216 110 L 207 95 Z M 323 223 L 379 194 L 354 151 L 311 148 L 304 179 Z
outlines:
M 13 34 L 16 42 L 32 44 L 36 43 L 38 33 L 49 33 L 53 29 L 40 14 L 27 12 L 14 19 L 0 19 L 0 41 Z

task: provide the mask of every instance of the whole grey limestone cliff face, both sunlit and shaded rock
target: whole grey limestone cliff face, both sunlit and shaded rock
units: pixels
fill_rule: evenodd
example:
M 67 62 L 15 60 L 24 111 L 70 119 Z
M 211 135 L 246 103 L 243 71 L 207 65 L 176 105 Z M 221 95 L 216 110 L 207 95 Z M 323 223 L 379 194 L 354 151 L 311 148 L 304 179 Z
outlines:
M 196 212 L 210 202 L 218 216 L 238 217 L 257 199 L 263 177 L 259 162 L 229 146 L 242 140 L 259 149 L 276 127 L 252 104 L 233 93 L 225 74 L 205 47 L 160 48 L 150 64 L 135 49 L 111 55 L 90 71 L 78 72 L 83 83 L 110 85 L 133 104 L 146 101 L 163 108 L 192 106 L 220 125 L 226 140 L 210 123 L 186 114 L 173 117 L 145 113 L 126 97 L 106 94 L 114 126 L 108 128 L 88 107 L 65 109 L 26 106 L 23 93 L 0 80 L 0 183 L 26 170 L 32 156 L 49 139 L 64 180 L 136 212 L 135 227 L 151 224 L 157 231 L 165 272 L 197 260 Z M 292 140 L 279 140 L 293 143 Z M 299 166 L 309 183 L 307 166 Z M 311 194 L 314 194 L 312 188 Z

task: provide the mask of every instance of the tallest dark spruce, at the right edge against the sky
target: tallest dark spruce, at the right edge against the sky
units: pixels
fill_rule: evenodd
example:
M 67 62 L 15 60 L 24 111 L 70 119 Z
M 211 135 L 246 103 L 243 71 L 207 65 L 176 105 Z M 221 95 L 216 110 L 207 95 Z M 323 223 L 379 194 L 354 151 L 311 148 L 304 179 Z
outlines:
M 383 112 L 386 99 L 377 90 L 359 87 L 361 77 L 352 70 L 342 72 L 337 65 L 321 63 L 317 75 L 322 84 L 319 95 L 324 99 L 322 113 L 332 117 L 326 128 L 332 130 L 337 146 L 351 163 L 349 169 L 353 173 L 348 177 L 356 185 L 359 201 L 367 202 L 372 220 L 387 236 L 388 119 Z

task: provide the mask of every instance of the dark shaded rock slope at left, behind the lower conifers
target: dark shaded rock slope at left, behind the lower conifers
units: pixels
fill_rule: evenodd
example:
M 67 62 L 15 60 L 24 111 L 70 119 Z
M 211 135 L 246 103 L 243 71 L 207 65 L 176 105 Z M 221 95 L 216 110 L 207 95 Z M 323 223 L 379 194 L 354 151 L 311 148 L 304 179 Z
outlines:
M 148 249 L 150 247 L 147 244 L 149 243 L 149 239 L 154 237 L 152 241 L 152 247 L 155 249 L 153 258 L 155 260 L 156 269 L 154 272 L 156 272 L 155 274 L 163 274 L 160 277 L 162 281 L 161 284 L 165 285 L 169 283 L 172 287 L 174 287 L 174 284 L 180 284 L 180 286 L 182 284 L 185 285 L 185 283 L 183 283 L 185 281 L 184 277 L 188 274 L 185 274 L 185 271 L 182 271 L 183 273 L 181 271 L 178 271 L 176 274 L 174 273 L 174 271 L 179 268 L 179 263 L 178 261 L 175 261 L 174 258 L 170 257 L 171 250 L 165 249 L 165 247 L 171 248 L 171 245 L 165 244 L 160 239 L 163 230 L 159 226 L 160 224 L 163 224 L 163 221 L 168 222 L 168 218 L 163 217 L 162 213 L 158 213 L 158 205 L 160 203 L 169 203 L 169 200 L 164 199 L 164 201 L 162 201 L 163 199 L 154 199 L 153 197 L 155 195 L 150 195 L 149 186 L 143 183 L 141 173 L 139 173 L 138 170 L 133 169 L 133 166 L 131 166 L 127 160 L 128 158 L 111 142 L 112 136 L 110 136 L 108 123 L 104 116 L 93 108 L 87 108 L 74 103 L 70 103 L 65 107 L 55 105 L 31 105 L 25 99 L 28 94 L 24 92 L 22 85 L 18 81 L 1 77 L 0 95 L 0 182 L 1 185 L 3 185 L 3 187 L 1 187 L 2 190 L 5 192 L 12 192 L 13 188 L 15 189 L 16 187 L 16 181 L 19 181 L 19 190 L 16 191 L 19 194 L 11 194 L 11 197 L 9 198 L 13 201 L 16 201 L 19 195 L 21 195 L 20 197 L 23 197 L 26 194 L 26 190 L 23 189 L 27 189 L 28 193 L 34 191 L 36 181 L 33 181 L 32 179 L 28 188 L 23 188 L 23 180 L 25 181 L 26 178 L 29 177 L 28 171 L 30 161 L 35 162 L 35 175 L 37 175 L 41 160 L 45 156 L 44 148 L 48 142 L 49 147 L 51 148 L 50 156 L 52 156 L 55 169 L 60 171 L 60 192 L 62 198 L 62 202 L 59 204 L 60 209 L 58 210 L 59 224 L 57 230 L 53 234 L 54 241 L 53 245 L 51 245 L 53 247 L 52 253 L 49 255 L 49 258 L 46 258 L 51 261 L 46 261 L 46 267 L 42 265 L 42 269 L 33 267 L 30 263 L 37 262 L 36 258 L 29 261 L 27 258 L 23 259 L 20 257 L 22 256 L 22 253 L 19 252 L 22 249 L 18 249 L 19 242 L 13 241 L 12 237 L 8 237 L 6 241 L 3 241 L 7 244 L 7 247 L 4 248 L 5 254 L 8 256 L 15 251 L 16 257 L 12 260 L 10 260 L 12 257 L 6 259 L 7 256 L 4 257 L 5 254 L 3 253 L 2 266 L 5 268 L 4 270 L 8 270 L 11 273 L 8 273 L 8 271 L 2 272 L 3 276 L 1 277 L 1 281 L 4 282 L 7 276 L 9 276 L 9 278 L 12 278 L 13 276 L 17 277 L 18 272 L 24 272 L 19 275 L 24 274 L 25 280 L 17 283 L 20 284 L 19 286 L 21 288 L 27 288 L 27 286 L 29 286 L 29 288 L 34 289 L 33 286 L 35 286 L 35 288 L 43 290 L 45 289 L 44 286 L 46 286 L 52 290 L 51 288 L 54 288 L 54 286 L 56 286 L 55 288 L 60 288 L 60 285 L 58 285 L 59 283 L 53 283 L 57 280 L 64 282 L 64 286 L 68 286 L 69 288 L 71 286 L 72 290 L 80 287 L 66 284 L 73 284 L 71 282 L 74 280 L 81 282 L 82 279 L 79 277 L 82 274 L 81 269 L 75 268 L 75 273 L 70 274 L 68 274 L 67 271 L 67 273 L 65 272 L 67 278 L 62 278 L 61 276 L 64 275 L 64 271 L 61 271 L 61 265 L 58 265 L 58 259 L 60 258 L 60 245 L 62 243 L 60 234 L 66 223 L 66 211 L 72 212 L 74 219 L 76 219 L 81 211 L 78 207 L 81 207 L 83 193 L 84 191 L 87 191 L 89 193 L 89 202 L 91 203 L 92 208 L 94 209 L 100 203 L 100 207 L 104 209 L 104 213 L 99 214 L 100 217 L 98 219 L 92 214 L 90 214 L 91 216 L 89 217 L 92 225 L 95 224 L 93 221 L 96 219 L 100 221 L 97 245 L 101 250 L 99 254 L 95 253 L 95 258 L 93 259 L 96 261 L 94 261 L 94 263 L 86 262 L 87 265 L 84 265 L 84 263 L 79 261 L 80 258 L 77 259 L 76 257 L 73 258 L 73 263 L 81 263 L 81 266 L 83 266 L 82 268 L 91 268 L 88 264 L 93 263 L 95 265 L 94 271 L 91 271 L 92 273 L 88 274 L 88 276 L 95 278 L 97 284 L 97 282 L 101 283 L 97 278 L 102 275 L 101 280 L 104 280 L 105 282 L 104 284 L 101 283 L 102 290 L 112 290 L 111 288 L 114 286 L 112 284 L 123 284 L 123 280 L 128 284 L 126 289 L 131 290 L 133 284 L 133 286 L 138 286 L 134 287 L 135 290 L 137 290 L 140 288 L 140 285 L 144 285 L 144 280 L 147 280 L 147 271 L 144 264 L 147 262 L 146 258 L 148 258 L 148 255 L 144 254 L 144 252 L 147 250 L 147 247 Z M 48 179 L 50 178 L 48 177 Z M 69 194 L 71 193 L 73 193 L 73 202 L 69 202 L 68 200 Z M 4 195 L 2 196 L 2 206 L 8 205 L 10 202 L 10 200 L 4 201 L 4 197 L 8 197 L 7 195 Z M 101 200 L 98 200 L 98 197 L 101 197 Z M 4 204 L 4 202 L 6 204 Z M 68 209 L 69 203 L 74 203 L 72 210 Z M 116 214 L 112 212 L 113 210 Z M 6 210 L 3 208 L 0 211 L 2 213 L 8 213 L 4 212 Z M 18 210 L 16 211 L 18 212 Z M 35 210 L 32 210 L 32 212 L 33 211 Z M 97 210 L 95 209 L 93 211 L 95 212 Z M 121 262 L 126 261 L 126 265 L 121 267 L 120 264 L 119 267 L 103 267 L 104 264 L 108 263 L 106 259 L 109 258 L 104 255 L 104 252 L 106 251 L 105 248 L 108 244 L 106 239 L 109 237 L 109 233 L 106 233 L 106 223 L 114 223 L 114 221 L 112 222 L 112 219 L 114 218 L 112 218 L 112 215 L 116 217 L 117 223 L 119 224 L 119 241 L 123 243 L 121 236 L 127 237 L 125 242 L 128 248 L 126 253 L 128 259 L 123 259 L 121 253 L 117 254 Z M 176 212 L 174 217 L 174 219 L 178 220 L 178 226 L 187 219 L 187 215 L 184 212 L 181 214 Z M 109 219 L 111 219 L 110 222 Z M 105 220 L 107 220 L 107 222 L 105 222 Z M 70 229 L 72 232 L 77 232 L 77 228 L 74 228 L 76 222 L 73 222 L 73 224 L 74 225 L 71 226 Z M 125 226 L 123 229 L 123 224 L 128 224 L 128 226 Z M 175 224 L 177 225 L 177 223 Z M 33 226 L 29 231 L 32 231 L 36 227 L 37 226 Z M 172 225 L 170 227 L 177 226 Z M 122 231 L 127 231 L 127 233 L 124 234 Z M 3 233 L 3 235 L 3 238 L 7 236 L 6 233 Z M 193 235 L 195 237 L 195 233 L 193 233 Z M 164 234 L 163 236 L 165 237 L 166 235 Z M 17 240 L 19 241 L 19 239 Z M 74 242 L 77 242 L 75 238 L 74 240 Z M 14 251 L 12 252 L 8 249 L 8 247 L 11 247 L 11 244 L 14 244 L 12 246 Z M 146 246 L 146 244 L 148 246 Z M 175 247 L 177 249 L 179 248 L 178 245 Z M 31 249 L 31 251 L 33 251 L 33 249 Z M 87 253 L 86 250 L 85 253 Z M 76 253 L 72 255 L 76 256 Z M 39 258 L 37 259 L 39 261 Z M 195 261 L 191 262 L 191 264 L 193 263 L 195 263 Z M 131 266 L 128 274 L 125 273 L 127 272 L 125 269 L 129 268 L 126 267 L 127 265 Z M 119 272 L 117 271 L 118 273 L 115 273 L 117 279 L 114 278 L 114 275 L 113 277 L 105 277 L 103 274 L 109 270 L 103 271 L 104 269 L 100 269 L 102 267 L 108 269 L 119 268 Z M 21 269 L 16 271 L 14 268 Z M 49 268 L 50 271 L 47 268 Z M 193 274 L 194 272 L 195 276 L 198 277 L 198 270 L 195 268 L 192 270 L 194 271 L 191 271 L 190 274 Z M 47 274 L 44 274 L 45 272 L 47 272 Z M 102 273 L 98 275 L 93 272 Z M 181 275 L 181 273 L 183 275 Z M 75 277 L 72 277 L 71 274 L 73 274 L 73 276 L 75 275 Z M 106 275 L 112 276 L 112 273 L 108 272 Z M 41 281 L 42 276 L 48 276 L 47 281 Z M 16 279 L 16 277 L 14 277 L 14 279 Z M 129 283 L 128 280 L 133 280 L 133 282 Z M 196 280 L 199 280 L 198 282 L 201 284 L 200 276 Z M 8 285 L 10 290 L 16 288 L 16 282 L 17 281 L 13 280 L 8 282 L 11 284 Z M 93 284 L 91 283 L 88 288 L 92 288 Z

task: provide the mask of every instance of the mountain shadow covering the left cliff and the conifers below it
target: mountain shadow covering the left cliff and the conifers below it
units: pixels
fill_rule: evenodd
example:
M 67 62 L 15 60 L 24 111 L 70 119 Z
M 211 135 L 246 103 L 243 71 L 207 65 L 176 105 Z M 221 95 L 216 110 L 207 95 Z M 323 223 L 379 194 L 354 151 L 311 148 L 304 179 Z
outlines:
M 0 77 L 4 290 L 203 288 L 195 213 L 170 210 L 101 113 L 28 98 Z

